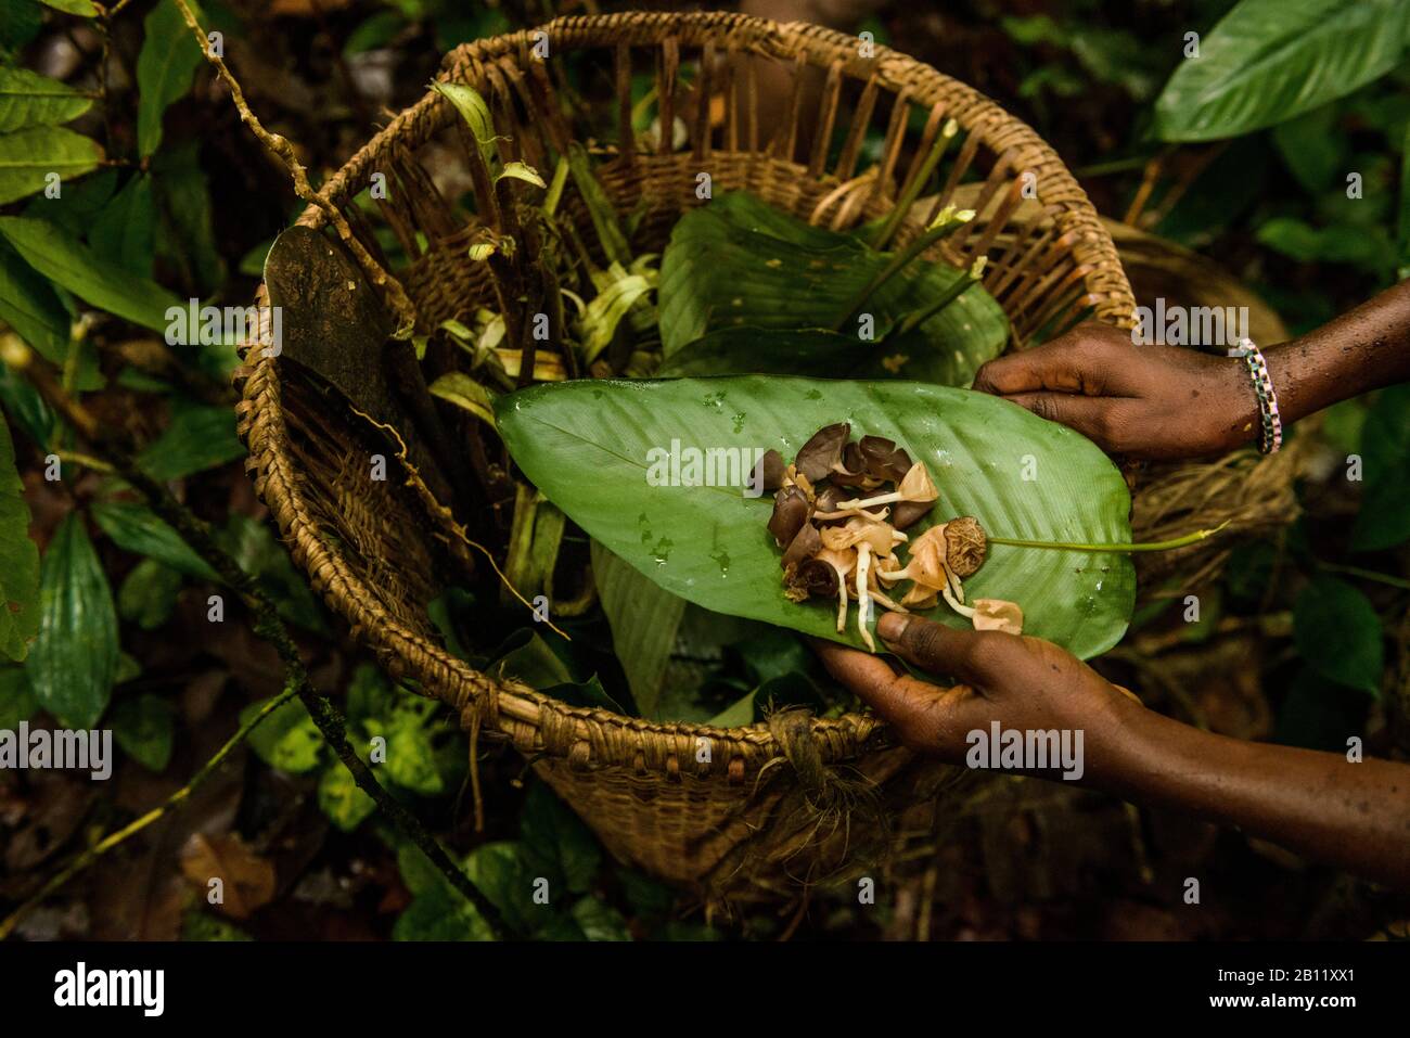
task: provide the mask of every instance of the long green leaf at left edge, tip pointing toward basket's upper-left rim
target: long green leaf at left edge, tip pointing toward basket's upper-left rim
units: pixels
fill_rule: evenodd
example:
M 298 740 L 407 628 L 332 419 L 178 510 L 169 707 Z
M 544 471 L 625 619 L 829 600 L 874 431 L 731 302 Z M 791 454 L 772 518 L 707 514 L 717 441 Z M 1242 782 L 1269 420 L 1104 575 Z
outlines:
M 102 260 L 78 238 L 45 220 L 3 216 L 0 234 L 30 267 L 99 310 L 165 331 L 168 307 L 182 307 L 176 296 L 161 285 Z

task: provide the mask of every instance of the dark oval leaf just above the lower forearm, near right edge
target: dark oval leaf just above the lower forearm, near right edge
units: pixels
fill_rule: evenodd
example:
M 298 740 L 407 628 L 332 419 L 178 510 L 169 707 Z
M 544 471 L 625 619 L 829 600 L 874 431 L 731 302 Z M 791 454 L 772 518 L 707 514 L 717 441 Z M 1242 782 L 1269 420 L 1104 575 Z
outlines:
M 1335 577 L 1313 577 L 1293 606 L 1297 652 L 1318 674 L 1373 698 L 1385 666 L 1380 618 L 1356 588 Z

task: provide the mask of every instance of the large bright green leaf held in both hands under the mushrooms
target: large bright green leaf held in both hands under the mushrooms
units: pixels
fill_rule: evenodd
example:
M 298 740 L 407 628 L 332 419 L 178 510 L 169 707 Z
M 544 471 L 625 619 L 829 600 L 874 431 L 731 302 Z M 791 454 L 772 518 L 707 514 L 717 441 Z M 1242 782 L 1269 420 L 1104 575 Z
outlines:
M 534 484 L 615 554 L 697 605 L 859 645 L 829 604 L 783 595 L 768 496 L 735 487 L 653 487 L 649 453 L 776 448 L 791 458 L 821 426 L 850 422 L 931 470 L 936 519 L 973 515 L 994 536 L 1124 543 L 1129 495 L 1080 434 L 986 393 L 914 382 L 718 378 L 540 385 L 496 402 L 499 430 Z M 1024 478 L 1025 475 L 1032 478 Z M 925 525 L 911 527 L 915 536 Z M 1017 601 L 1029 633 L 1079 656 L 1120 640 L 1135 595 L 1121 554 L 994 546 L 967 587 Z M 935 618 L 962 626 L 959 616 Z

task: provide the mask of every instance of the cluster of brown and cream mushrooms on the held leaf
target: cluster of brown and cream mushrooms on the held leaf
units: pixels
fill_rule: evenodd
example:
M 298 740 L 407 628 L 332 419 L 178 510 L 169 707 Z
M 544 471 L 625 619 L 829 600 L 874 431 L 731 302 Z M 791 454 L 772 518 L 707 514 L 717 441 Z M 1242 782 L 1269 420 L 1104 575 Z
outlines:
M 847 601 L 857 601 L 857 633 L 876 652 L 869 621 L 873 604 L 895 612 L 931 609 L 940 598 L 980 630 L 1022 630 L 1014 602 L 964 602 L 960 581 L 984 564 L 984 527 L 973 516 L 936 523 L 914 542 L 904 533 L 939 498 L 924 461 L 881 436 L 853 443 L 846 422 L 823 426 L 798 450 L 791 465 L 764 454 L 764 489 L 774 491 L 768 532 L 783 549 L 784 594 L 794 602 L 814 595 L 838 599 L 838 633 L 847 628 Z M 894 484 L 894 489 L 885 489 Z M 902 566 L 901 544 L 909 547 Z M 890 588 L 912 581 L 900 602 Z

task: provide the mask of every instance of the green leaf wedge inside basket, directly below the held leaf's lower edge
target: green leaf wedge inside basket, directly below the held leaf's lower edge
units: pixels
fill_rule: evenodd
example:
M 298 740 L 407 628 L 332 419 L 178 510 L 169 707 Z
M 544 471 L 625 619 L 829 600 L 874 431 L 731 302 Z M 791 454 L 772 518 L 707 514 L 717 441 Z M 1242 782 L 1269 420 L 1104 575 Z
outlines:
M 592 578 L 612 628 L 612 649 L 626 671 L 632 698 L 644 718 L 656 718 L 675 632 L 685 615 L 680 595 L 644 577 L 592 542 Z

